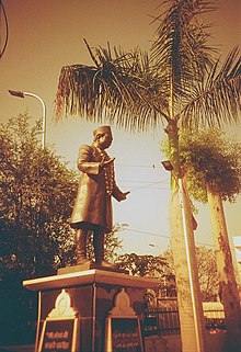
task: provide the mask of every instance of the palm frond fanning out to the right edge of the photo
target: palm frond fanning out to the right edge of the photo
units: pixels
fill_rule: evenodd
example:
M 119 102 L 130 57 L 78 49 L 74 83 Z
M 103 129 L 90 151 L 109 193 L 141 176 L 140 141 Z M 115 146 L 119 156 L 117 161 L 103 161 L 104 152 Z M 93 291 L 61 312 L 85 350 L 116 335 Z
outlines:
M 222 127 L 237 123 L 241 113 L 241 57 L 238 47 L 227 56 L 219 68 L 217 61 L 202 83 L 193 88 L 190 102 L 176 116 L 182 125 Z

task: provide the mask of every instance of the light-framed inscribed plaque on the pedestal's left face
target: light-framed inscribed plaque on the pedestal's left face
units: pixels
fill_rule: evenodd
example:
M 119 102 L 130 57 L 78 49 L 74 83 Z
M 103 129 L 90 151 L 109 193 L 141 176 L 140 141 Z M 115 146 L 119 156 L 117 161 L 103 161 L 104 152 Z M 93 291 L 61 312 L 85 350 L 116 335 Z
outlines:
M 37 352 L 77 352 L 78 318 L 46 319 Z

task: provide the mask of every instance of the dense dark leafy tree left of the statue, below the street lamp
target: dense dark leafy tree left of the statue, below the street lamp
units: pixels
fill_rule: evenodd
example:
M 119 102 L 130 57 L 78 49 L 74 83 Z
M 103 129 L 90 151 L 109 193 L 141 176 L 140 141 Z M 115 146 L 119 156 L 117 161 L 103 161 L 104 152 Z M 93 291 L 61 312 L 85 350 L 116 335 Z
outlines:
M 0 126 L 1 275 L 35 277 L 68 263 L 76 174 L 39 145 L 41 124 L 20 114 Z M 73 256 L 71 256 L 73 257 Z

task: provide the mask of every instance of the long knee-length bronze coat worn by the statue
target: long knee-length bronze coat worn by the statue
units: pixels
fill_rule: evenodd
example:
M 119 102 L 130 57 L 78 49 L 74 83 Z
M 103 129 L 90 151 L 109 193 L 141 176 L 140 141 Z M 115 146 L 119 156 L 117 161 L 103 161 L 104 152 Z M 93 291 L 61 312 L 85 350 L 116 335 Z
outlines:
M 112 196 L 120 202 L 124 193 L 115 183 L 113 163 L 105 170 L 101 168 L 103 154 L 105 160 L 108 160 L 110 156 L 93 145 L 80 147 L 78 169 L 81 175 L 70 218 L 73 228 L 78 228 L 81 223 L 89 223 L 102 226 L 105 232 L 112 231 Z

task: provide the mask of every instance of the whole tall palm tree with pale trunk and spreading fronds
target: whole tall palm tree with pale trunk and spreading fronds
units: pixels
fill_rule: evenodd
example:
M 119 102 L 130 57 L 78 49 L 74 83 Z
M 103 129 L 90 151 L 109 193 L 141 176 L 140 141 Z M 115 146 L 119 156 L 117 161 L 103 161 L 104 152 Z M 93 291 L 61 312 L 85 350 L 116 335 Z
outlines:
M 238 49 L 222 67 L 208 46 L 208 27 L 200 15 L 214 10 L 208 1 L 172 0 L 157 16 L 150 55 L 139 48 L 87 48 L 93 66 L 61 69 L 56 118 L 79 114 L 88 121 L 107 120 L 125 129 L 162 128 L 173 166 L 170 227 L 175 259 L 183 352 L 205 351 L 205 329 L 197 280 L 192 212 L 182 191 L 179 128 L 236 122 L 240 111 L 241 63 Z M 108 117 L 106 117 L 108 116 Z M 182 204 L 180 204 L 182 195 Z M 192 256 L 190 256 L 190 253 Z M 197 298 L 197 299 L 193 299 Z

